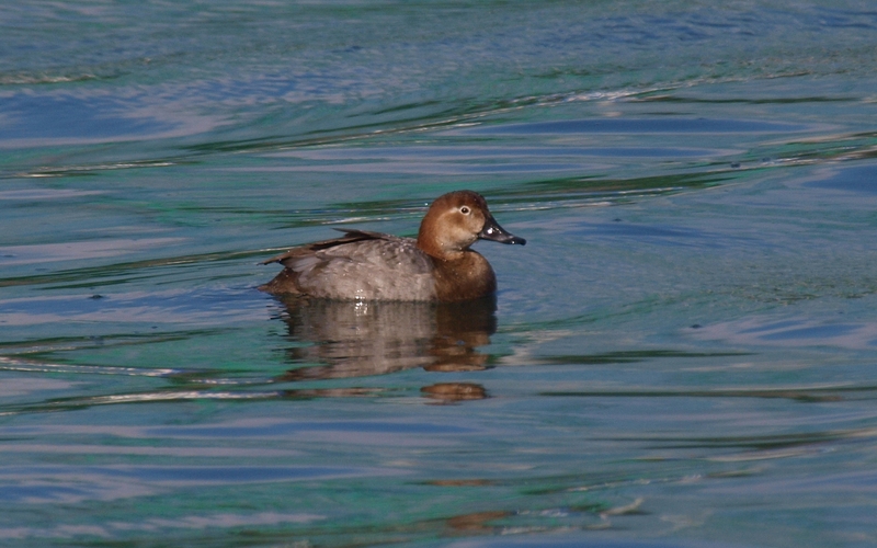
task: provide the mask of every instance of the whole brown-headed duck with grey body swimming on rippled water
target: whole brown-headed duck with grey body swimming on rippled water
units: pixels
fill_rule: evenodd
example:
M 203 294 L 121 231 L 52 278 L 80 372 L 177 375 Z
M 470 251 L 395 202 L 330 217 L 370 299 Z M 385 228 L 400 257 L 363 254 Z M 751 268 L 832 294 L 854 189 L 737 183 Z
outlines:
M 417 238 L 335 229 L 340 238 L 295 247 L 263 261 L 284 266 L 259 289 L 344 300 L 454 302 L 493 295 L 497 275 L 470 246 L 478 240 L 524 246 L 503 229 L 474 191 L 438 196 Z

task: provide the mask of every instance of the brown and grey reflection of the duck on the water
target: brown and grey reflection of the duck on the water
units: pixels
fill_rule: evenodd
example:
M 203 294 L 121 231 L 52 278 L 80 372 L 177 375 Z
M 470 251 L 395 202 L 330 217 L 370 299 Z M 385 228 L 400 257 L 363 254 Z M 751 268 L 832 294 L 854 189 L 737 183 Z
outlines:
M 493 295 L 462 302 L 354 301 L 297 295 L 276 298 L 289 336 L 294 363 L 320 363 L 288 370 L 282 383 L 387 375 L 414 367 L 428 372 L 471 372 L 488 367 L 479 346 L 497 330 Z M 307 344 L 310 343 L 310 344 Z M 472 383 L 438 383 L 424 397 L 451 402 L 483 399 Z

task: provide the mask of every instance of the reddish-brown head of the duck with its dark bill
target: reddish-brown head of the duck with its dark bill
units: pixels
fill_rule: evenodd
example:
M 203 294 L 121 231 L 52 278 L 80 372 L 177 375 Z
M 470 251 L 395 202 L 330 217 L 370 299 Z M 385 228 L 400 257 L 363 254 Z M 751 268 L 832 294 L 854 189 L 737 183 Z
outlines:
M 423 217 L 418 233 L 418 247 L 438 259 L 452 259 L 476 240 L 526 243 L 503 229 L 490 215 L 483 196 L 472 191 L 438 196 Z

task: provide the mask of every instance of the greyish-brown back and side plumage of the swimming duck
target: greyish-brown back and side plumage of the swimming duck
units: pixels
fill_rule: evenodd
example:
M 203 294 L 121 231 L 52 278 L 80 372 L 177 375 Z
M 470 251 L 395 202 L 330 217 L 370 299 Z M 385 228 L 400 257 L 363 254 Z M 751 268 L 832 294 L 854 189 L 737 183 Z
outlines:
M 285 266 L 262 286 L 270 293 L 331 299 L 435 299 L 432 260 L 411 238 L 346 231 L 343 238 L 295 248 L 266 262 Z

